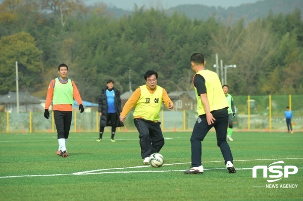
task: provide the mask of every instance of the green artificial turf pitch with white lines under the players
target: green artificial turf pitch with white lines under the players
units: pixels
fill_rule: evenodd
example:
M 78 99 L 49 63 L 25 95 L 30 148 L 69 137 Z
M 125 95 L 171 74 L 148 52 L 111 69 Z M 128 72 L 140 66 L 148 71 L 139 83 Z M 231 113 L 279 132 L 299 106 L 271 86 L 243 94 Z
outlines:
M 165 162 L 153 168 L 142 163 L 136 132 L 118 132 L 115 143 L 109 132 L 99 143 L 97 133 L 70 133 L 68 158 L 56 155 L 56 133 L 0 134 L 1 200 L 303 199 L 302 132 L 234 132 L 234 142 L 228 143 L 236 174 L 228 174 L 215 132 L 209 132 L 203 142 L 204 174 L 184 175 L 190 167 L 190 135 L 164 132 Z M 298 172 L 269 183 L 278 174 L 263 178 L 260 169 L 252 178 L 254 166 L 278 161 Z

